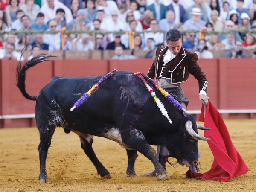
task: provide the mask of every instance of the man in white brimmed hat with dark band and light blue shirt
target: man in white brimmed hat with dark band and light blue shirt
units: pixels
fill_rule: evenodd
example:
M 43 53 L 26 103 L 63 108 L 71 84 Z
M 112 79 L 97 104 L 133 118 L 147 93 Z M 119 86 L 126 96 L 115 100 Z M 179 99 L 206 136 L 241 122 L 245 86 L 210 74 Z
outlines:
M 186 20 L 186 22 L 183 25 L 184 30 L 193 30 L 193 31 L 199 31 L 204 28 L 205 22 L 201 20 L 201 10 L 197 7 L 194 7 L 192 9 L 191 19 Z

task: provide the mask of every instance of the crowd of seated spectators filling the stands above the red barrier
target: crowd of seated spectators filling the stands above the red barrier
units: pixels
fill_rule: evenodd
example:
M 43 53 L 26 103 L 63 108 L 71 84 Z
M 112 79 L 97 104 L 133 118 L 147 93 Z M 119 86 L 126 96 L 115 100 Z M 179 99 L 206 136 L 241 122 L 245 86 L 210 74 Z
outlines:
M 61 47 L 61 33 L 48 32 L 64 27 L 102 34 L 65 34 Z M 246 58 L 243 50 L 256 50 L 256 0 L 1 0 L 1 31 L 38 33 L 2 33 L 0 58 L 19 60 L 23 48 L 31 50 L 30 57 L 40 50 L 111 49 L 116 51 L 113 58 L 134 58 L 122 55 L 130 49 L 132 54 L 146 51 L 146 58 L 152 58 L 155 48 L 166 44 L 165 33 L 157 30 L 172 28 L 185 31 L 182 45 L 198 58 L 213 58 L 212 50 Z M 203 38 L 198 32 L 202 29 Z

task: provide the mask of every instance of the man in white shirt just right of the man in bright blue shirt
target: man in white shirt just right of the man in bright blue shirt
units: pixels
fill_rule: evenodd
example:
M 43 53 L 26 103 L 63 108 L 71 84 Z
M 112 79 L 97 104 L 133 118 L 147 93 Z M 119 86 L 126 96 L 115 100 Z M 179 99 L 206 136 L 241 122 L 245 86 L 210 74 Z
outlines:
M 57 31 L 58 23 L 55 20 L 50 20 L 47 31 Z M 43 35 L 44 43 L 49 44 L 49 51 L 59 51 L 61 49 L 61 35 L 60 33 Z

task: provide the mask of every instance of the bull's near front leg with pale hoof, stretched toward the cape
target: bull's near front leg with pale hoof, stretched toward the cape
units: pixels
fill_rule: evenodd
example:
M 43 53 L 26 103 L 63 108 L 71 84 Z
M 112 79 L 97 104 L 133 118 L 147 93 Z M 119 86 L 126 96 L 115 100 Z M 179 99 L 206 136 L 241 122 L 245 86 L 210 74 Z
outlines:
M 136 129 L 130 130 L 127 132 L 122 132 L 122 142 L 126 145 L 131 146 L 132 148 L 139 151 L 145 157 L 147 157 L 154 165 L 156 169 L 156 175 L 160 179 L 168 179 L 169 175 L 163 166 L 157 160 L 157 154 L 154 148 L 152 148 L 148 142 L 145 140 L 145 137 L 141 131 Z

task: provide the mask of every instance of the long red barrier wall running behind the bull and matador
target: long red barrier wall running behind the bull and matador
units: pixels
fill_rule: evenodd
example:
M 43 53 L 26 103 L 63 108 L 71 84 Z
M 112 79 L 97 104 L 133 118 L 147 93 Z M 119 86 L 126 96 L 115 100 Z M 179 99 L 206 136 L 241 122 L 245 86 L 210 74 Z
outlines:
M 29 95 L 36 96 L 53 76 L 98 76 L 113 68 L 147 74 L 152 62 L 153 59 L 46 61 L 27 71 L 26 90 Z M 17 64 L 18 61 L 0 61 L 0 116 L 30 114 L 35 111 L 35 101 L 25 99 L 15 86 Z M 207 74 L 208 96 L 216 108 L 256 109 L 255 60 L 199 59 L 198 64 Z M 182 88 L 189 98 L 188 110 L 201 109 L 197 80 L 190 76 Z M 35 119 L 0 119 L 1 128 L 26 126 L 35 126 Z

